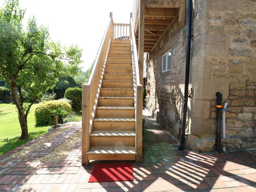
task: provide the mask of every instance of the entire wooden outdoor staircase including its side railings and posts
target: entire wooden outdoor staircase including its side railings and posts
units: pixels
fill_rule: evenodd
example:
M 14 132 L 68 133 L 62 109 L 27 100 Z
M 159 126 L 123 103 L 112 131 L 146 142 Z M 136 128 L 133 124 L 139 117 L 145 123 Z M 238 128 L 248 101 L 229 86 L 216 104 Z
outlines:
M 132 30 L 132 38 L 124 36 L 124 30 L 116 35 L 120 25 L 110 17 L 89 81 L 82 87 L 83 164 L 89 160 L 142 161 L 143 86 L 135 35 Z M 122 25 L 133 29 L 131 23 Z

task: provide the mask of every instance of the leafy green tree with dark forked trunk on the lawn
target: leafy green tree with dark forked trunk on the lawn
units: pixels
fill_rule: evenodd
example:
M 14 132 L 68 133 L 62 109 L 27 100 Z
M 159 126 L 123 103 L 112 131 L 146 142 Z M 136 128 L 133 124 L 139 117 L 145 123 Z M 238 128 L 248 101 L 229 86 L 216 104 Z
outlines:
M 30 18 L 27 29 L 22 26 L 25 10 L 18 0 L 8 0 L 0 10 L 0 79 L 11 88 L 22 130 L 20 139 L 28 137 L 27 115 L 39 96 L 59 77 L 75 75 L 81 63 L 82 50 L 76 45 L 63 47 L 53 42 L 48 29 Z M 30 103 L 24 103 L 26 90 Z

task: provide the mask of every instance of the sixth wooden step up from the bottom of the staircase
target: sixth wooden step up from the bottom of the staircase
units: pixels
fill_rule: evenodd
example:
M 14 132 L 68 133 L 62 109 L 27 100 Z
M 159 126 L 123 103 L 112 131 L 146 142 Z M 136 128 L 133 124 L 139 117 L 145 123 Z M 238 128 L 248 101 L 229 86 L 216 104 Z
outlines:
M 133 97 L 133 89 L 128 88 L 101 88 L 102 97 Z

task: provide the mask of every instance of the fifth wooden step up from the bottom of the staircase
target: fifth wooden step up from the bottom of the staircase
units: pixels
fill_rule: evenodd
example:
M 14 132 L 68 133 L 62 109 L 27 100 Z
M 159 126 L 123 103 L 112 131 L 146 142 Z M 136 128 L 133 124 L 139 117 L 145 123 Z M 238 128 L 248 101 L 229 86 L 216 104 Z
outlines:
M 134 106 L 133 97 L 99 97 L 99 106 Z

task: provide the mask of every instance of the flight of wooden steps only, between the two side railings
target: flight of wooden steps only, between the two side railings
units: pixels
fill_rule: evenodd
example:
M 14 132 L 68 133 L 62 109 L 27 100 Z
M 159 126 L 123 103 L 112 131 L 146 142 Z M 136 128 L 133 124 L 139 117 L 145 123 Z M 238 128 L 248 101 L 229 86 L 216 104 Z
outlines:
M 88 159 L 135 160 L 135 107 L 129 40 L 111 40 Z

